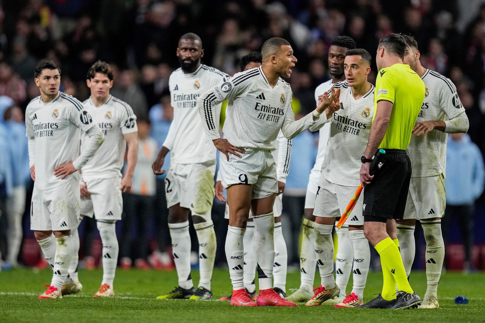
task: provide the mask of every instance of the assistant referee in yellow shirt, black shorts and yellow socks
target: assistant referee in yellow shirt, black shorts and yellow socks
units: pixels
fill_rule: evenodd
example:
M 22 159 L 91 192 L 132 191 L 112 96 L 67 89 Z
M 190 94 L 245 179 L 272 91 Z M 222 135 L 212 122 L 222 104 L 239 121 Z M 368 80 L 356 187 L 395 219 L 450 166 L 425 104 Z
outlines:
M 407 281 L 396 236 L 396 219 L 404 216 L 411 180 L 406 148 L 424 100 L 425 86 L 409 65 L 403 64 L 406 41 L 391 33 L 379 40 L 376 64 L 374 118 L 360 169 L 364 189 L 364 233 L 381 257 L 382 293 L 359 308 L 415 308 L 421 303 Z M 386 151 L 374 176 L 370 161 L 377 149 Z M 399 292 L 396 295 L 396 284 Z

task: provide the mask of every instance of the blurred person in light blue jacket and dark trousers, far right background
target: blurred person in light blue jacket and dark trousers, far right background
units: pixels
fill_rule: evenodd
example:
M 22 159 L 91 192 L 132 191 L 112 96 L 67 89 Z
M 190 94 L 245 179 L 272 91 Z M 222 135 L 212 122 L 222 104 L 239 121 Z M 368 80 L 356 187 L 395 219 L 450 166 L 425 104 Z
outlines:
M 450 235 L 454 221 L 464 244 L 465 270 L 473 269 L 471 250 L 474 243 L 473 213 L 475 201 L 484 190 L 485 168 L 483 156 L 467 134 L 451 134 L 446 151 L 446 211 L 442 218 L 443 237 Z

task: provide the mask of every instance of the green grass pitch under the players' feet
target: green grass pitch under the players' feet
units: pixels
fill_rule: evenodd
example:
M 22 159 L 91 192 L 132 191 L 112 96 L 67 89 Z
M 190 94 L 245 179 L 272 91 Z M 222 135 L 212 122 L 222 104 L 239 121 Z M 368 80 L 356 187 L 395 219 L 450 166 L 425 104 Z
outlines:
M 318 273 L 318 271 L 317 271 Z M 463 275 L 447 272 L 441 277 L 438 288 L 439 309 L 379 310 L 321 307 L 297 308 L 239 308 L 229 302 L 157 300 L 155 297 L 168 292 L 177 284 L 175 271 L 121 270 L 116 272 L 113 298 L 94 298 L 99 288 L 101 270 L 81 270 L 79 277 L 83 292 L 65 296 L 61 300 L 40 300 L 42 284 L 50 282 L 51 271 L 17 269 L 0 272 L 0 322 L 345 322 L 345 323 L 408 323 L 408 322 L 485 322 L 485 273 Z M 193 271 L 194 282 L 198 272 Z M 288 274 L 287 289 L 299 286 L 300 274 Z M 320 277 L 315 278 L 318 282 Z M 351 278 L 352 280 L 352 278 Z M 372 293 L 380 292 L 381 273 L 370 273 L 365 290 L 365 300 Z M 349 282 L 352 286 L 352 282 Z M 422 296 L 426 289 L 426 275 L 411 273 L 411 286 Z M 214 297 L 231 292 L 229 274 L 215 270 L 212 277 Z M 455 305 L 454 297 L 464 295 L 468 305 Z

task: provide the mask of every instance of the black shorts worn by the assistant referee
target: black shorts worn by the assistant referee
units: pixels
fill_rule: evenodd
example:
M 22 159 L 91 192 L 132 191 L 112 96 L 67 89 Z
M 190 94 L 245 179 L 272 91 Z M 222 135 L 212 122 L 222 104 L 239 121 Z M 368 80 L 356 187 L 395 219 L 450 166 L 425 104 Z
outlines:
M 364 189 L 364 222 L 402 219 L 406 206 L 411 160 L 405 150 L 385 149 L 383 165 Z

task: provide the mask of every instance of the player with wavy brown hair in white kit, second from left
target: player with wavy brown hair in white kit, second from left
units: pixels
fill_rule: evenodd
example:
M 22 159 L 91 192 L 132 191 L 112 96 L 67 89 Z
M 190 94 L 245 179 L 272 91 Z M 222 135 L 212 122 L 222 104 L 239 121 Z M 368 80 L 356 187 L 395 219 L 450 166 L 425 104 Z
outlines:
M 136 116 L 131 107 L 110 94 L 113 87 L 113 71 L 106 62 L 94 63 L 87 73 L 86 83 L 91 96 L 83 102 L 86 110 L 104 135 L 104 143 L 81 171 L 81 220 L 83 216 L 96 218 L 96 226 L 103 245 L 103 280 L 97 297 L 113 296 L 113 280 L 118 262 L 118 239 L 116 221 L 123 212 L 122 192 L 129 192 L 138 158 Z M 81 152 L 86 149 L 86 136 L 81 137 Z M 127 171 L 122 178 L 125 150 Z M 81 222 L 81 221 L 80 221 Z M 79 236 L 76 230 L 76 252 L 69 266 L 71 280 L 63 286 L 63 294 L 79 291 L 77 275 Z M 73 235 L 74 240 L 74 235 Z

